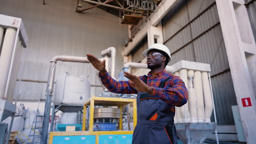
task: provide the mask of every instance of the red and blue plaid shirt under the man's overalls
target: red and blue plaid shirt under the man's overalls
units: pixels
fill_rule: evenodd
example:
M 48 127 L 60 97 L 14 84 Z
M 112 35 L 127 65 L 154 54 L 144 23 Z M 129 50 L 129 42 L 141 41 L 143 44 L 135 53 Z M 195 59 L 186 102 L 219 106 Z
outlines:
M 139 79 L 144 80 L 146 75 L 139 76 Z M 158 85 L 161 81 L 164 81 L 167 77 L 170 79 L 165 83 L 164 88 L 158 88 Z M 138 94 L 138 91 L 129 84 L 128 81 L 116 81 L 108 72 L 100 74 L 102 83 L 105 87 L 113 93 L 122 93 L 122 94 Z M 148 73 L 147 85 L 153 86 L 153 93 L 150 94 L 155 96 L 166 103 L 168 103 L 170 110 L 175 115 L 175 106 L 181 107 L 187 103 L 188 95 L 187 88 L 184 82 L 178 76 L 174 76 L 171 73 L 167 73 L 166 70 L 162 70 L 154 77 L 151 76 L 151 73 Z

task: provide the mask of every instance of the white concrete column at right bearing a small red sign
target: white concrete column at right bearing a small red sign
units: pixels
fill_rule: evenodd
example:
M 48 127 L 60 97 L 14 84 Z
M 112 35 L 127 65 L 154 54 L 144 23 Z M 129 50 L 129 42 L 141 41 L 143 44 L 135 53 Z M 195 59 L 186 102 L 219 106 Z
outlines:
M 244 0 L 216 0 L 246 142 L 256 143 L 256 46 L 244 3 Z M 252 106 L 244 107 L 242 98 L 250 98 Z

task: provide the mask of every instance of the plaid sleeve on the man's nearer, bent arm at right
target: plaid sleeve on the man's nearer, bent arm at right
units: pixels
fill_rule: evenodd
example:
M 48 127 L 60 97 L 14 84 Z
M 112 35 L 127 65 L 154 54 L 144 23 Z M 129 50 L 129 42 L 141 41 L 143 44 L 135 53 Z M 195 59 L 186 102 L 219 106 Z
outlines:
M 188 93 L 184 82 L 178 76 L 173 76 L 166 83 L 168 87 L 158 88 L 153 86 L 153 95 L 161 100 L 173 104 L 176 107 L 181 107 L 187 103 Z

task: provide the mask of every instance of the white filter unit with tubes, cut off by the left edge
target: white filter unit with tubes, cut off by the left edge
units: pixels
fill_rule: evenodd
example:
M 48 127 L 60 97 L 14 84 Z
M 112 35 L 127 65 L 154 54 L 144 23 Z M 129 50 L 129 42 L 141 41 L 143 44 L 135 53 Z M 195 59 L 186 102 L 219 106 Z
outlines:
M 12 104 L 20 59 L 28 44 L 28 37 L 22 19 L 0 14 L 0 122 L 15 113 Z M 22 71 L 22 70 L 21 70 Z M 19 90 L 18 90 L 19 91 Z M 7 143 L 14 117 L 9 126 Z M 6 134 L 6 125 L 0 125 L 0 133 Z M 2 140 L 4 138 L 4 140 Z M 5 137 L 0 137 L 0 143 Z

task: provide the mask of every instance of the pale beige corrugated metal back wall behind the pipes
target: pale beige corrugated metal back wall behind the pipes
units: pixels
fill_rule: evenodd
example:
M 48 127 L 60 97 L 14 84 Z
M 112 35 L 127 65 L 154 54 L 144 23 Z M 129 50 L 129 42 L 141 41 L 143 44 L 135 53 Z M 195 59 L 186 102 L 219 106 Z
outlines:
M 122 48 L 127 39 L 127 26 L 99 8 L 76 13 L 77 0 L 1 0 L 0 13 L 23 19 L 29 37 L 24 59 L 22 79 L 47 81 L 51 58 L 56 55 L 101 57 L 101 51 L 110 46 L 117 49 L 117 70 L 123 67 Z M 84 7 L 90 4 L 82 3 Z M 57 62 L 56 76 L 69 72 L 74 76 L 89 75 L 92 85 L 99 85 L 96 70 L 91 64 Z M 117 73 L 118 74 L 118 73 Z M 20 78 L 20 75 L 18 76 Z M 45 99 L 46 83 L 21 82 L 18 99 Z M 18 84 L 16 85 L 16 89 Z M 91 94 L 99 95 L 102 88 L 91 87 Z M 15 92 L 14 99 L 18 92 Z

